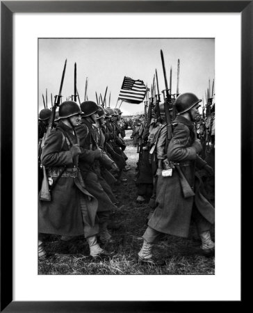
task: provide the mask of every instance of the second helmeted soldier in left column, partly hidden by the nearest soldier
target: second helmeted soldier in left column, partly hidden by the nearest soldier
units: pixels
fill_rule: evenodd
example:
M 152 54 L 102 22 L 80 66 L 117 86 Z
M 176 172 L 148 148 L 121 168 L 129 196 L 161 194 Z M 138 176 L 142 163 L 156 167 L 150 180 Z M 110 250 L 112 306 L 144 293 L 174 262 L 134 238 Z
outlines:
M 81 175 L 83 176 L 86 188 L 99 202 L 97 209 L 97 216 L 99 217 L 99 239 L 102 243 L 113 243 L 114 241 L 108 232 L 107 225 L 111 211 L 116 210 L 117 207 L 103 188 L 107 184 L 103 177 L 101 177 L 99 163 L 101 162 L 111 167 L 115 163 L 108 158 L 106 153 L 98 145 L 97 130 L 94 124 L 99 117 L 97 113 L 99 106 L 95 102 L 85 101 L 81 103 L 81 110 L 83 112 L 81 125 L 76 127 L 82 150 L 79 158 Z

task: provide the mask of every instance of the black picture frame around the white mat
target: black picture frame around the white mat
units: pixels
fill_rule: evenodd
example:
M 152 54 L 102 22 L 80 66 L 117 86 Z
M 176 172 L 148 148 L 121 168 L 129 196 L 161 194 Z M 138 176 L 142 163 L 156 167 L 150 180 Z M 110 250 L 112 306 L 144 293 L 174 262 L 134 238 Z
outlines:
M 1 1 L 1 312 L 179 312 L 193 303 L 13 301 L 13 13 L 81 12 L 241 13 L 242 208 L 253 190 L 252 179 L 246 179 L 249 173 L 252 178 L 253 1 Z M 197 310 L 203 302 L 195 305 Z M 215 301 L 209 310 L 213 305 Z

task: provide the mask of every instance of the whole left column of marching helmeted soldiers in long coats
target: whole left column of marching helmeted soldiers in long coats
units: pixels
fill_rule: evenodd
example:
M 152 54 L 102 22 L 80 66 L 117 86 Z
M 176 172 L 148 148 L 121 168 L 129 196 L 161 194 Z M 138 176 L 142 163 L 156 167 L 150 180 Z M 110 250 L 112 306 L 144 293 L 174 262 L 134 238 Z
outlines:
M 39 257 L 47 234 L 62 241 L 84 234 L 91 257 L 108 255 L 101 243 L 115 242 L 108 223 L 119 209 L 112 187 L 129 170 L 122 111 L 92 101 L 63 102 L 45 139 L 51 114 L 42 109 L 39 115 Z

